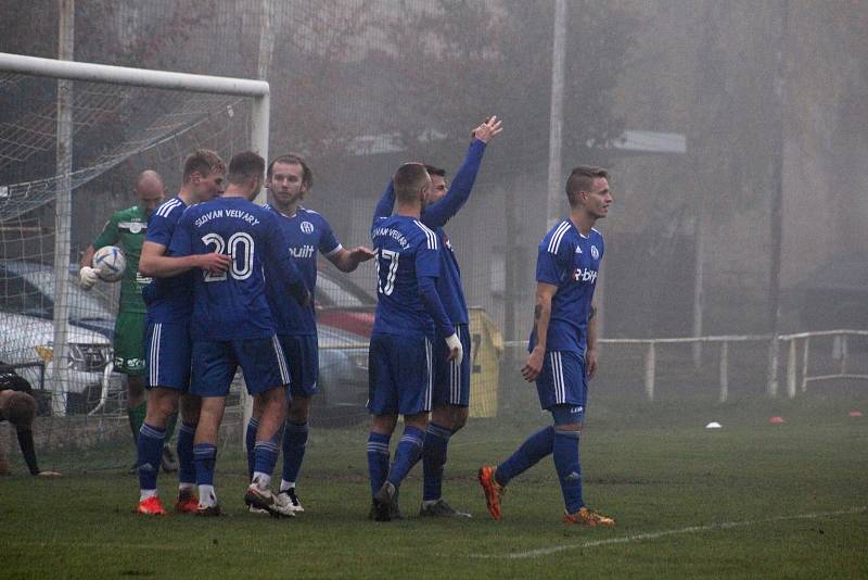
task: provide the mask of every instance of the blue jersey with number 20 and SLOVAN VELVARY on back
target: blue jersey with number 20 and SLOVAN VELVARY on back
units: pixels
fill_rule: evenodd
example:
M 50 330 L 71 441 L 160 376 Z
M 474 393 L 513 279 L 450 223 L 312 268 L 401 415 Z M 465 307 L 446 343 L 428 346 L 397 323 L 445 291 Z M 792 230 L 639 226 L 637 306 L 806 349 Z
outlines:
M 264 265 L 273 268 L 286 283 L 301 279 L 285 248 L 289 241 L 275 213 L 246 199 L 224 197 L 189 207 L 171 238 L 171 252 L 176 255 L 217 252 L 232 257 L 225 273 L 194 273 L 190 328 L 193 340 L 273 336 Z

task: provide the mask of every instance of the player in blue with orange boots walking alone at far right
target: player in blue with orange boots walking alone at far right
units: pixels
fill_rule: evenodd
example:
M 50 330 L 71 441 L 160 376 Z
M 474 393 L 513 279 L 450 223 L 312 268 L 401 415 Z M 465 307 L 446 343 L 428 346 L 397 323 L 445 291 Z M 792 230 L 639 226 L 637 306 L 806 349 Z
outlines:
M 611 527 L 614 519 L 585 505 L 578 449 L 587 380 L 597 370 L 593 290 L 603 238 L 593 225 L 608 215 L 613 201 L 609 173 L 575 167 L 566 181 L 566 196 L 570 217 L 549 230 L 538 247 L 534 329 L 522 367 L 524 379 L 536 381 L 539 403 L 551 413 L 553 425 L 528 437 L 498 466 L 481 467 L 478 480 L 488 512 L 499 520 L 507 483 L 552 454 L 564 499 L 563 521 Z

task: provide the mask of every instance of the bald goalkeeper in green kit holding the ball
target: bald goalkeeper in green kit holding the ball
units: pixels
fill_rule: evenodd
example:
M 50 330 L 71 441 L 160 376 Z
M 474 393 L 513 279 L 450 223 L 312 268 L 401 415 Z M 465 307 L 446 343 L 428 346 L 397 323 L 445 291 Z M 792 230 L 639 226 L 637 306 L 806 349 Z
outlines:
M 142 300 L 142 288 L 150 278 L 139 275 L 139 257 L 148 232 L 148 218 L 163 203 L 166 188 L 163 178 L 154 171 L 144 171 L 136 179 L 135 193 L 138 203 L 112 215 L 93 244 L 81 256 L 79 278 L 81 288 L 90 290 L 99 279 L 93 268 L 93 254 L 100 248 L 117 245 L 124 252 L 127 267 L 120 281 L 120 308 L 115 320 L 114 365 L 115 371 L 127 377 L 127 414 L 132 430 L 132 440 L 139 434 L 146 411 L 144 391 L 144 315 L 146 307 Z M 167 429 L 166 441 L 175 429 L 173 417 Z M 175 471 L 177 465 L 169 446 L 163 450 L 163 470 Z M 132 469 L 135 472 L 135 467 Z

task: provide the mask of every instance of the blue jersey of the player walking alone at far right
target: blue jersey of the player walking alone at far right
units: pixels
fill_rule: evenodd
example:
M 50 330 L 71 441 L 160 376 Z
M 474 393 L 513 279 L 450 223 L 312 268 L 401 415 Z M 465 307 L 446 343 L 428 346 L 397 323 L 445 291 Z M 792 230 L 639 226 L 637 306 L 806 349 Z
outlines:
M 547 351 L 573 351 L 585 355 L 593 289 L 603 259 L 603 237 L 596 229 L 585 237 L 570 219 L 561 220 L 539 242 L 536 280 L 557 286 L 551 299 Z M 528 351 L 536 336 L 531 332 Z

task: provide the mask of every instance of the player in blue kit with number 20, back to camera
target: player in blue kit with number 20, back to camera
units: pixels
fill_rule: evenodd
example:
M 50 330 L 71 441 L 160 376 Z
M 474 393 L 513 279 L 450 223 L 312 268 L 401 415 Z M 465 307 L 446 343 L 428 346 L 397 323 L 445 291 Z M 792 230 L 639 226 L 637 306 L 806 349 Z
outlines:
M 189 207 L 169 247 L 178 256 L 212 252 L 230 256 L 226 272 L 200 273 L 193 285 L 190 391 L 202 398 L 193 454 L 200 494 L 196 514 L 203 516 L 220 514 L 214 490 L 217 432 L 239 366 L 247 391 L 259 400 L 263 409 L 253 480 L 244 501 L 272 515 L 283 515 L 270 482 L 278 457 L 272 437 L 285 419 L 284 386 L 290 375 L 266 298 L 265 269 L 279 277 L 286 293 L 301 304 L 307 303 L 309 293 L 298 269 L 282 251 L 289 242 L 277 216 L 252 202 L 264 178 L 263 157 L 250 151 L 235 154 L 229 162 L 229 185 L 224 196 Z

